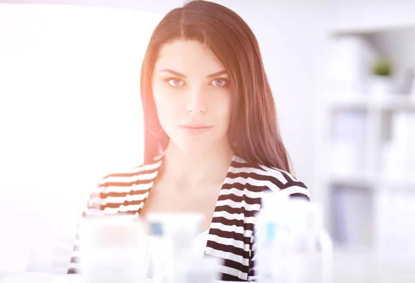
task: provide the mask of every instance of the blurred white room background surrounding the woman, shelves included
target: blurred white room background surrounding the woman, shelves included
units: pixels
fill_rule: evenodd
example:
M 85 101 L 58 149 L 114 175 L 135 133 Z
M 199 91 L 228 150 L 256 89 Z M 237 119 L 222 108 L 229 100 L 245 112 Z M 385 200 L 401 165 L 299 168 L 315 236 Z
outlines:
M 415 2 L 216 2 L 257 36 L 295 176 L 335 246 L 412 263 Z M 64 271 L 89 192 L 142 161 L 142 57 L 182 4 L 0 1 L 0 258 L 26 243 L 26 271 Z M 372 72 L 380 58 L 390 75 Z

